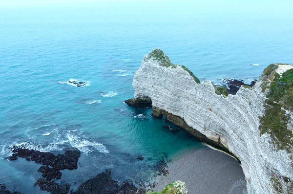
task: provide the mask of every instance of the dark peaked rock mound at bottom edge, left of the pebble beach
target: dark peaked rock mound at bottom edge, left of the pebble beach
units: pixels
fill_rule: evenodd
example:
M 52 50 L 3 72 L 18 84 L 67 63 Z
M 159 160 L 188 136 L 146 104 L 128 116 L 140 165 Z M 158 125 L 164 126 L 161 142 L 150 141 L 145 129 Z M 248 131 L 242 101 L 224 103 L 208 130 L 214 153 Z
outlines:
M 76 192 L 71 194 L 117 194 L 118 182 L 111 178 L 111 171 L 106 170 L 85 181 Z

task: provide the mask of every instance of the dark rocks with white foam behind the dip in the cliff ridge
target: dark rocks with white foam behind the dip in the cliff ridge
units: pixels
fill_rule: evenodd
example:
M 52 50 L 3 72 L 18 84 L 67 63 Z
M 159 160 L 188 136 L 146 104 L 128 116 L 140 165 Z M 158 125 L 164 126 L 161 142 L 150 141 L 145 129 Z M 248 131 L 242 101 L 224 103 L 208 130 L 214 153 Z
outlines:
M 221 80 L 221 86 L 225 86 L 227 88 L 227 91 L 230 94 L 235 95 L 237 91 L 240 89 L 241 86 L 246 85 L 246 86 L 254 86 L 254 84 L 257 82 L 257 80 L 254 80 L 251 82 L 250 85 L 244 84 L 243 80 L 236 80 L 233 78 L 227 78 L 227 79 L 222 79 Z

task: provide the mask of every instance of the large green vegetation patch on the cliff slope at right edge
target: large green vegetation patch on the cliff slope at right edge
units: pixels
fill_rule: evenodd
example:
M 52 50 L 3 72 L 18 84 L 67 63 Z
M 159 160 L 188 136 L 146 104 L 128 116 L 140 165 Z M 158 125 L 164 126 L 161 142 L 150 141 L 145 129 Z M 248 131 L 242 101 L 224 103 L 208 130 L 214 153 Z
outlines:
M 278 149 L 292 152 L 293 134 L 287 129 L 290 116 L 282 108 L 293 110 L 293 69 L 284 72 L 282 78 L 275 74 L 264 108 L 265 113 L 260 117 L 260 135 L 270 134 Z

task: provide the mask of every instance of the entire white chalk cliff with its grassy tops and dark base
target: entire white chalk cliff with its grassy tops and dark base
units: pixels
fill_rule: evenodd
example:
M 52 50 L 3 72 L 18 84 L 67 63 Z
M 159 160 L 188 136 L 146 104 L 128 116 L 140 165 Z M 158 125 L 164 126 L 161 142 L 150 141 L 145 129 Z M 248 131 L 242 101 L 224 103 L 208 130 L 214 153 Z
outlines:
M 293 65 L 269 65 L 235 95 L 202 83 L 154 49 L 134 74 L 134 98 L 166 120 L 241 162 L 250 194 L 293 193 Z

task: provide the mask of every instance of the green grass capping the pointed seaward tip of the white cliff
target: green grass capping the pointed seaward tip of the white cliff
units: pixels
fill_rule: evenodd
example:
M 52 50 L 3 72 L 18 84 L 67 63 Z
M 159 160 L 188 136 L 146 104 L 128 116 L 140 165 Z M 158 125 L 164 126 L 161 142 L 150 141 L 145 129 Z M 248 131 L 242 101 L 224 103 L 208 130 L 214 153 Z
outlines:
M 193 80 L 200 84 L 199 79 L 184 65 L 174 65 L 171 63 L 170 59 L 167 57 L 167 55 L 163 52 L 163 50 L 156 48 L 151 53 L 148 54 L 147 59 L 155 59 L 160 62 L 161 66 L 176 68 L 177 66 L 181 66 L 184 70 L 186 70 L 189 75 L 193 78 Z

